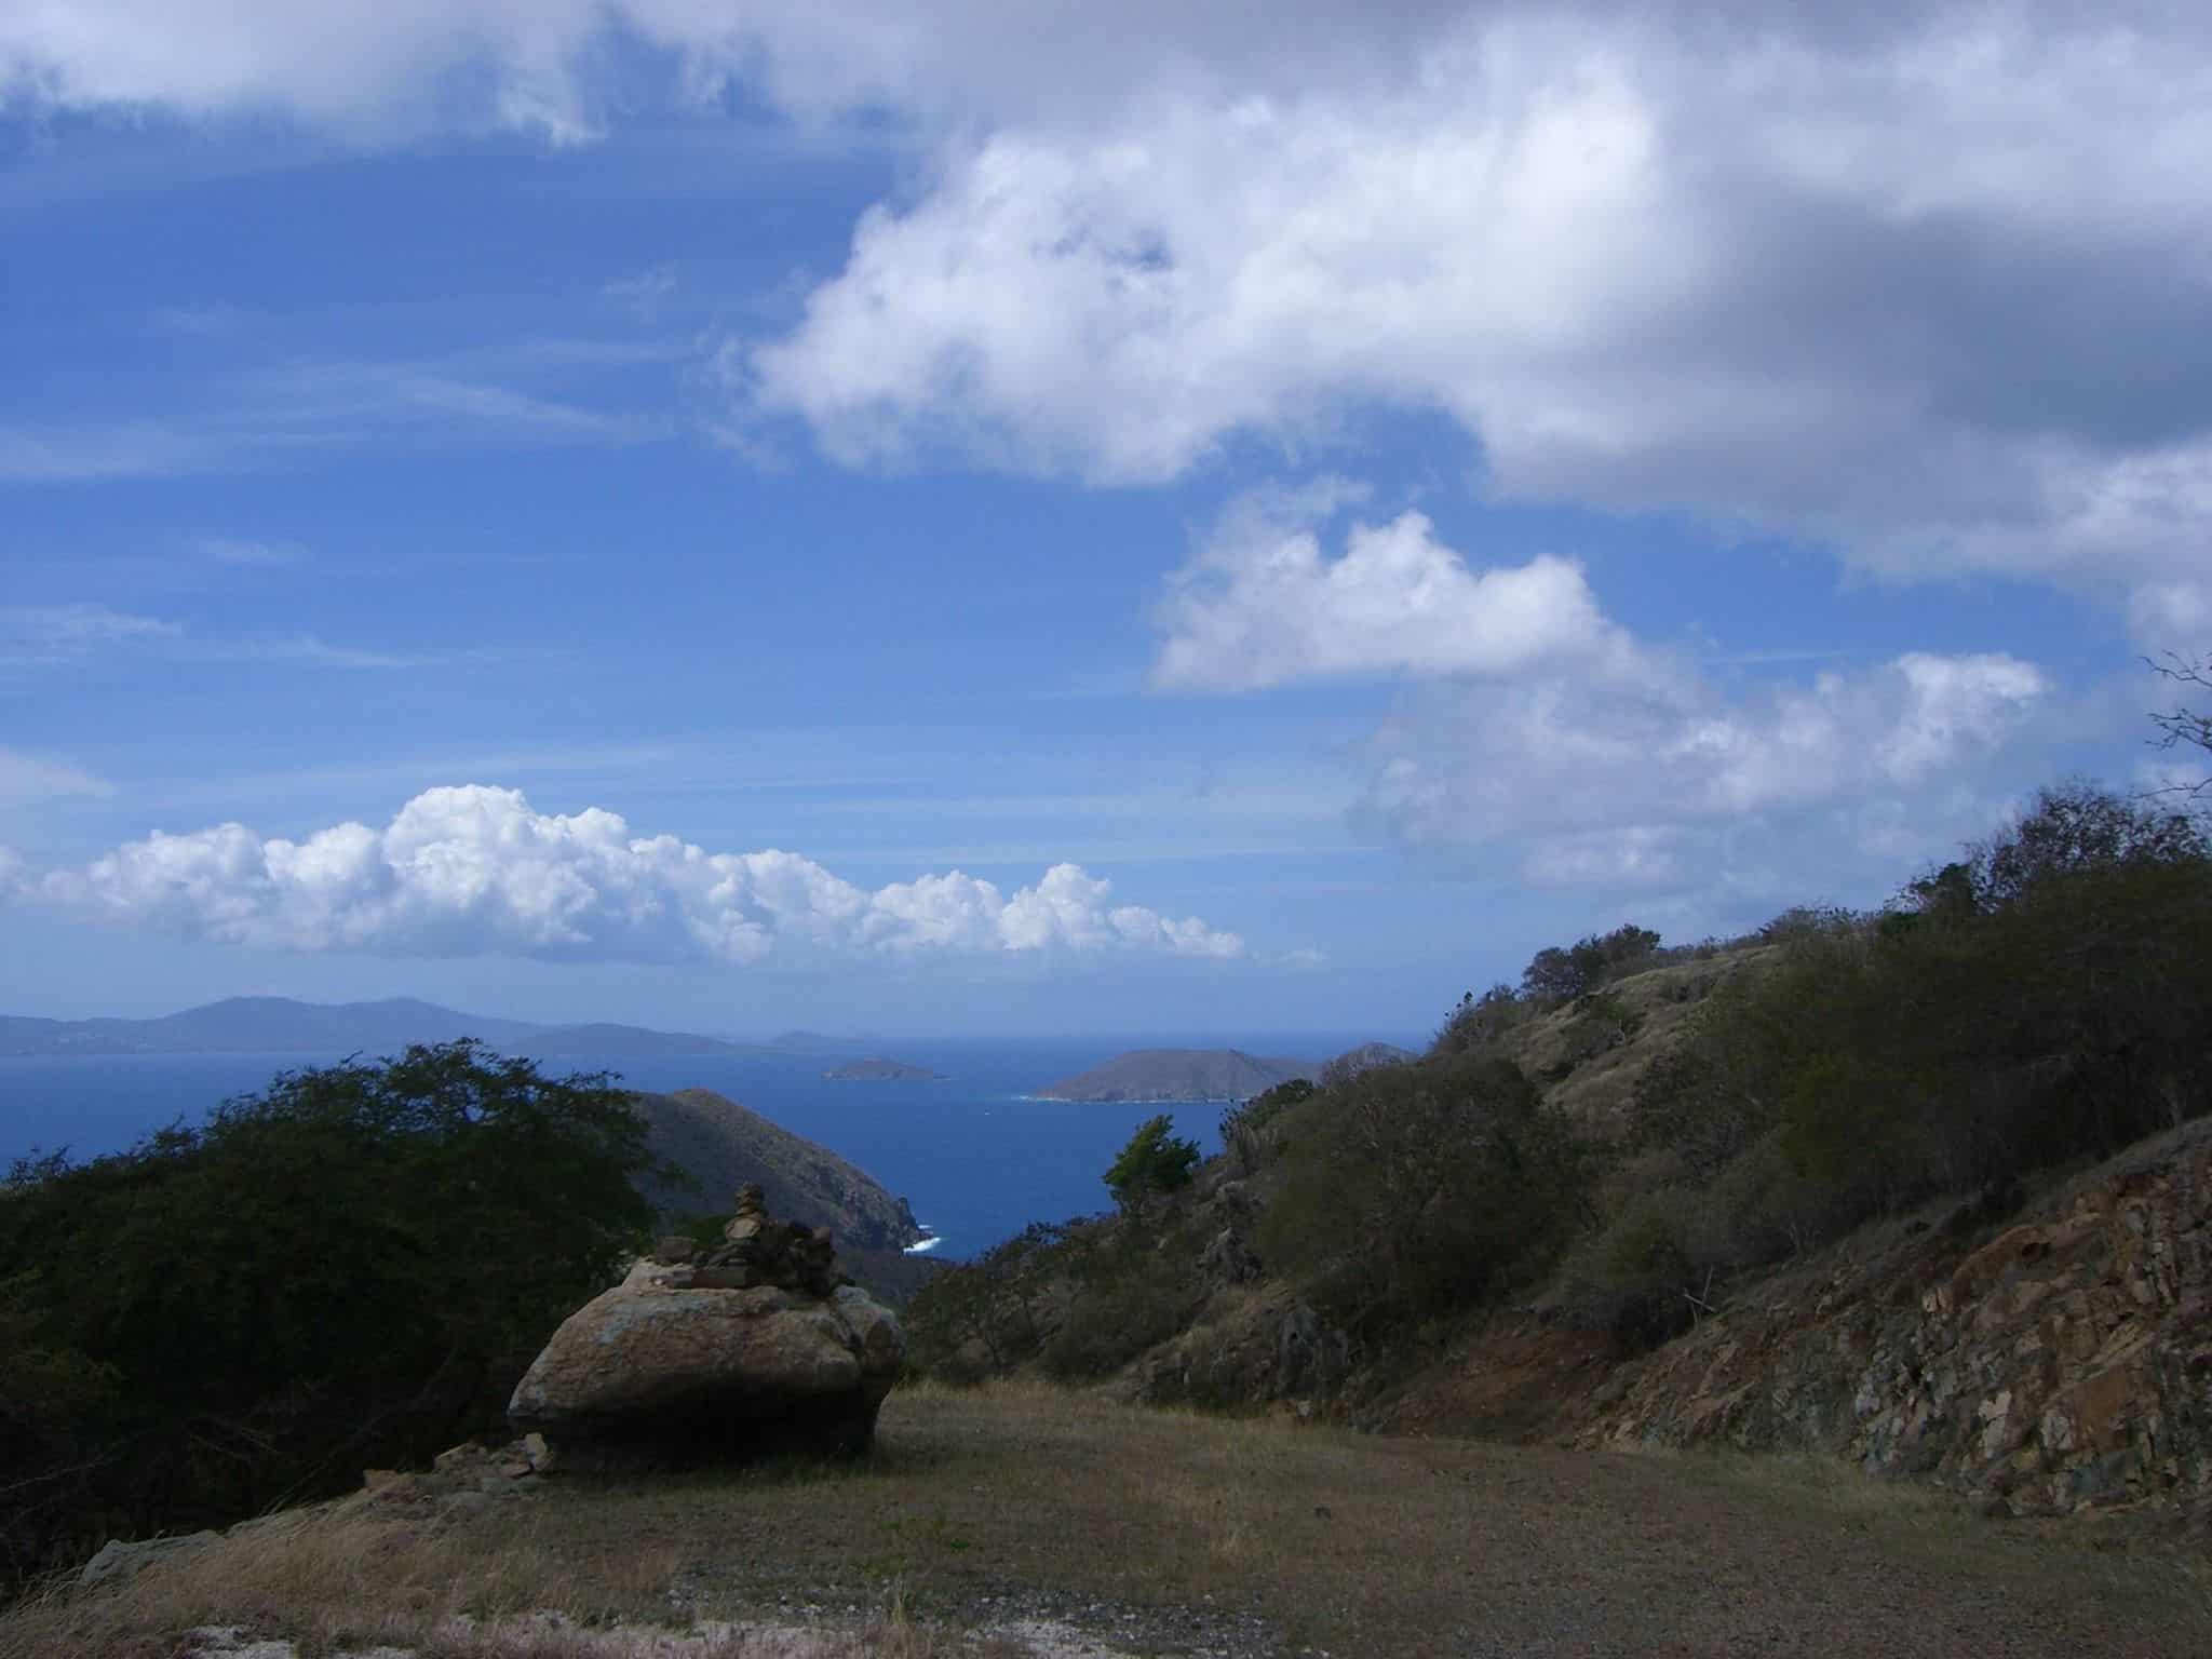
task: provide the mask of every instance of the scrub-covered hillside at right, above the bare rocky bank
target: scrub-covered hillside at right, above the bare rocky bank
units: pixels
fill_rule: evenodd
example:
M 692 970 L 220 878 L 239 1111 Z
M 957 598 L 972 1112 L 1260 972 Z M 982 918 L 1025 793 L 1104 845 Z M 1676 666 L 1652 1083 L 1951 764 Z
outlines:
M 1495 1310 L 1635 1354 L 1874 1219 L 1989 1230 L 2208 1108 L 2212 845 L 2066 785 L 1876 914 L 1546 949 L 1418 1062 L 1256 1095 L 1188 1186 L 1031 1228 L 911 1327 L 951 1378 L 1358 1416 Z

